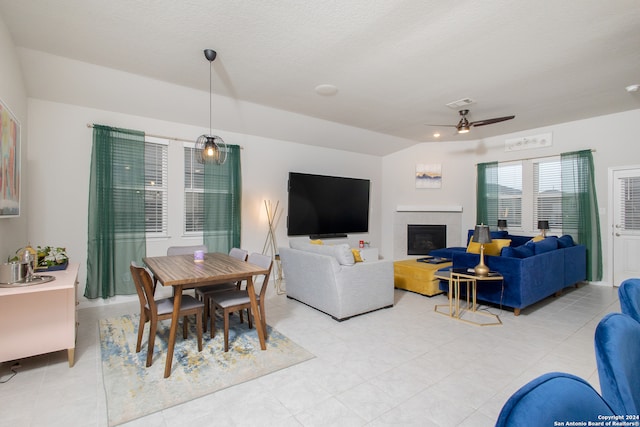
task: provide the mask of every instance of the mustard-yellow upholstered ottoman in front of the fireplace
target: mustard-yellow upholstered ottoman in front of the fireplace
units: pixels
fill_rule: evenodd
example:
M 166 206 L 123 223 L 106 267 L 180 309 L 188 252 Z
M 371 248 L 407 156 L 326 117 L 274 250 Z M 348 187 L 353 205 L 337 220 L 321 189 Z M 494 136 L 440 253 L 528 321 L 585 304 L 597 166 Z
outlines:
M 441 294 L 440 282 L 433 274 L 441 268 L 451 266 L 450 262 L 429 264 L 415 259 L 395 261 L 393 263 L 393 282 L 398 289 L 417 292 L 426 296 Z

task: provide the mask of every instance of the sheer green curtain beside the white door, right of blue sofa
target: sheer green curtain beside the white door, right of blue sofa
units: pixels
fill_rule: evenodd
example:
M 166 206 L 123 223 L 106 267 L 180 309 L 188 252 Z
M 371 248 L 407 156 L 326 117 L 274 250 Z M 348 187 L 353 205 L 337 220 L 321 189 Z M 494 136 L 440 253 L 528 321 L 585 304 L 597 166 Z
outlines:
M 602 280 L 602 242 L 591 150 L 563 153 L 562 232 L 587 247 L 587 280 Z

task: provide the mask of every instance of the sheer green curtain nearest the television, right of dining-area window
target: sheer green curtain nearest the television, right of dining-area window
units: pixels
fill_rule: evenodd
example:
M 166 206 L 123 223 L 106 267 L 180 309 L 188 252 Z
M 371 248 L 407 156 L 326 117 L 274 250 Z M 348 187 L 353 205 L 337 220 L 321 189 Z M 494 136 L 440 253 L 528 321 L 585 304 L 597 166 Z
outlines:
M 240 247 L 242 171 L 240 147 L 227 146 L 227 161 L 204 167 L 203 240 L 210 252 Z

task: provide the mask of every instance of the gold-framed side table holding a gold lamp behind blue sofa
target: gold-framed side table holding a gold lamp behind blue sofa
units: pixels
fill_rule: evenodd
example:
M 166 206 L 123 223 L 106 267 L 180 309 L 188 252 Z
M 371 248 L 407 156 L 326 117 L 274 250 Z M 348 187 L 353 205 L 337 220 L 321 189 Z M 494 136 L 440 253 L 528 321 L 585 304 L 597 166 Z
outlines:
M 495 271 L 489 272 L 488 276 L 478 276 L 473 272 L 473 269 L 466 268 L 452 268 L 449 270 L 449 274 L 446 273 L 436 273 L 434 277 L 438 279 L 446 280 L 449 283 L 449 304 L 437 304 L 434 307 L 434 311 L 438 314 L 442 314 L 445 316 L 453 317 L 456 320 L 461 322 L 470 323 L 476 326 L 497 326 L 502 325 L 502 321 L 497 314 L 493 313 L 485 313 L 478 311 L 477 303 L 476 303 L 476 291 L 478 282 L 485 281 L 504 281 L 504 277 L 500 273 Z M 467 305 L 464 308 L 460 307 L 460 285 L 467 286 Z M 469 287 L 471 287 L 471 301 L 469 300 Z M 449 308 L 448 312 L 443 311 L 442 307 Z M 491 322 L 478 322 L 475 320 L 464 319 L 462 316 L 465 311 L 469 311 L 473 313 L 473 315 L 480 315 L 484 317 L 490 317 L 493 321 Z

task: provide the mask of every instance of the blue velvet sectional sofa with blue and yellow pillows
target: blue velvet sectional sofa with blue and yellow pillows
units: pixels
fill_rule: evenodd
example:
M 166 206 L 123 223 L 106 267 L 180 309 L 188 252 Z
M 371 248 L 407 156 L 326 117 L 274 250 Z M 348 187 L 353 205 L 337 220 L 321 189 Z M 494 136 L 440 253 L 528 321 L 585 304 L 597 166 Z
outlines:
M 483 281 L 477 288 L 478 300 L 511 307 L 517 316 L 521 309 L 586 280 L 587 249 L 574 244 L 571 236 L 533 242 L 531 237 L 494 232 L 492 238 L 511 240 L 500 256 L 485 254 L 485 264 L 504 277 L 504 284 Z M 466 252 L 466 248 L 438 249 L 430 255 L 451 258 L 450 268 L 473 268 L 480 261 L 480 255 Z M 442 281 L 440 289 L 448 291 L 448 283 Z

